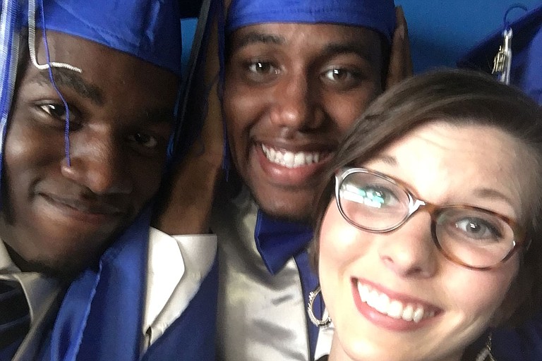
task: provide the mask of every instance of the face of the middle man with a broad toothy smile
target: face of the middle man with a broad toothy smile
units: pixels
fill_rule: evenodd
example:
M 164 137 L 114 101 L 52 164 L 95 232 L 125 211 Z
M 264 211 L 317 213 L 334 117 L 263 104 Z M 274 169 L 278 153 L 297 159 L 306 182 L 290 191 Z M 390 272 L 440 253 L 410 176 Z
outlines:
M 267 214 L 305 221 L 342 134 L 382 92 L 380 36 L 259 24 L 236 30 L 229 50 L 224 118 L 236 171 Z

